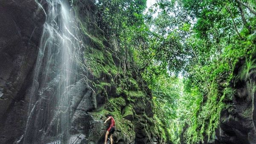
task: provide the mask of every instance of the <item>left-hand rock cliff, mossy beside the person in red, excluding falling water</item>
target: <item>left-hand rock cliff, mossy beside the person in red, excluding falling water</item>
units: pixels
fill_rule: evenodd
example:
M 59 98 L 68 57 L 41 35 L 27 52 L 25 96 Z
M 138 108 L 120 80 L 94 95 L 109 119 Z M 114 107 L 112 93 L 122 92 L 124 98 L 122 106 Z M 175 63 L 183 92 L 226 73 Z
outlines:
M 72 6 L 79 20 L 82 47 L 75 69 L 79 75 L 66 93 L 70 98 L 70 124 L 67 131 L 59 133 L 61 117 L 53 104 L 60 77 L 51 74 L 43 86 L 43 80 L 39 80 L 41 89 L 33 96 L 36 103 L 29 98 L 47 3 L 0 2 L 1 143 L 102 144 L 106 129 L 103 121 L 108 113 L 116 120 L 115 144 L 165 143 L 154 124 L 151 92 L 136 65 L 125 63 L 97 26 L 94 1 L 74 1 Z M 51 67 L 57 65 L 52 62 Z M 41 68 L 46 67 L 42 64 Z

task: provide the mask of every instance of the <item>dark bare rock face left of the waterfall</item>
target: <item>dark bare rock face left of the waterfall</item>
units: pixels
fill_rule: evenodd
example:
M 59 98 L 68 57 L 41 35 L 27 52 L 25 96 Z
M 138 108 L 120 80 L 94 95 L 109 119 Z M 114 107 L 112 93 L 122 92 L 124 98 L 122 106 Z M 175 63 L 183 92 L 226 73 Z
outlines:
M 0 1 L 0 141 L 18 140 L 45 14 L 35 0 Z M 12 115 L 12 117 L 10 116 Z M 17 136 L 19 135 L 19 136 Z

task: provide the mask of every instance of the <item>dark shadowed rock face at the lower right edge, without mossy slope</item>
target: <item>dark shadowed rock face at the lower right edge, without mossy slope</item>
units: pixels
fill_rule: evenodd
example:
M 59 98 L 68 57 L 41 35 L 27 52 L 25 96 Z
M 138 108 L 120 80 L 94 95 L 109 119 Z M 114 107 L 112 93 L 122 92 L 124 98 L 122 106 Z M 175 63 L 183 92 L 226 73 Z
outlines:
M 227 103 L 221 112 L 219 142 L 224 144 L 256 144 L 256 69 L 255 61 L 241 60 L 233 73 Z

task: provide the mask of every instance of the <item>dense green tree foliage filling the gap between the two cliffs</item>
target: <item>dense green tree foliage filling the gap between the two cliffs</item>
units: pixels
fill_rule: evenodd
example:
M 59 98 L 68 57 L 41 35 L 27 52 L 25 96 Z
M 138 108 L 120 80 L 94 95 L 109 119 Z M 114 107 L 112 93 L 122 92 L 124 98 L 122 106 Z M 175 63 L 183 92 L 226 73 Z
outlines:
M 96 4 L 123 67 L 151 89 L 166 141 L 211 142 L 234 65 L 256 49 L 256 1 L 157 0 L 144 14 L 145 0 Z

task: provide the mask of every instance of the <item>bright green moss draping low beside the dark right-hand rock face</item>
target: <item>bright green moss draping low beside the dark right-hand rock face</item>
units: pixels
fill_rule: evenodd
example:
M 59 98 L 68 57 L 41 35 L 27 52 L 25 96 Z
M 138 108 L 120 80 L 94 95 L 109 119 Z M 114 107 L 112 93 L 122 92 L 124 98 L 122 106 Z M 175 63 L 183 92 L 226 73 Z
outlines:
M 224 95 L 230 97 L 231 89 L 226 89 Z M 224 95 L 219 98 L 218 84 L 214 81 L 208 92 L 204 103 L 199 104 L 198 109 L 191 118 L 187 120 L 189 127 L 184 132 L 184 140 L 188 144 L 209 143 L 215 139 L 215 129 L 218 128 L 221 109 L 224 108 Z M 207 137 L 207 141 L 205 140 Z

